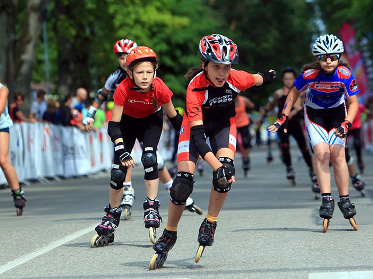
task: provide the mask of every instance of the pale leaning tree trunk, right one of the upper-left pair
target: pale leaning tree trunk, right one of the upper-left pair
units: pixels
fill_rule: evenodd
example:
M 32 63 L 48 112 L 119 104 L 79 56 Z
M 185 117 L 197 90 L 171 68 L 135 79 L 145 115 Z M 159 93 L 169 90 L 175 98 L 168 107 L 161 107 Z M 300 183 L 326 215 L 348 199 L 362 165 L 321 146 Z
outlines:
M 29 0 L 27 13 L 19 36 L 19 48 L 16 60 L 15 89 L 25 95 L 25 107 L 30 106 L 30 83 L 34 68 L 36 43 L 41 33 L 41 16 L 44 0 Z

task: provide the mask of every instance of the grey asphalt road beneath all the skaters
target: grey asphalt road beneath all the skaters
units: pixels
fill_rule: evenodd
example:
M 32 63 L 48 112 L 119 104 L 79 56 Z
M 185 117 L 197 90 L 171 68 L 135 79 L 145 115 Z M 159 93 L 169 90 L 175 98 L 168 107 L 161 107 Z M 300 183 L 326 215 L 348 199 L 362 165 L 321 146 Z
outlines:
M 194 262 L 197 235 L 205 216 L 211 187 L 211 169 L 196 174 L 191 197 L 203 215 L 184 212 L 178 240 L 163 268 L 149 271 L 153 256 L 143 226 L 145 198 L 143 170 L 133 172 L 136 200 L 132 218 L 122 219 L 109 246 L 90 248 L 94 227 L 108 203 L 109 174 L 50 181 L 25 186 L 27 205 L 17 216 L 9 189 L 0 190 L 1 279 L 368 279 L 373 278 L 373 155 L 365 153 L 366 197 L 352 188 L 358 230 L 353 230 L 336 207 L 329 230 L 322 218 L 307 167 L 292 149 L 297 186 L 285 178 L 277 151 L 266 162 L 266 149 L 254 148 L 252 169 L 244 178 L 240 155 L 236 183 L 218 219 L 215 243 Z M 335 183 L 332 195 L 338 199 Z M 166 226 L 168 194 L 160 184 L 158 198 Z

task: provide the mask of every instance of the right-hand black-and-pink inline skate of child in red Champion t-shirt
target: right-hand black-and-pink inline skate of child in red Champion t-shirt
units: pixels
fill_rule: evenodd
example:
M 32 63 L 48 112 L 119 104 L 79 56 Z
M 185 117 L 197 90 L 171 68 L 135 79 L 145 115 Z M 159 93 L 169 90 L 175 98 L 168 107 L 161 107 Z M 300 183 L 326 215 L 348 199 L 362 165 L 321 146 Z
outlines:
M 150 241 L 154 244 L 156 240 L 156 231 L 155 229 L 159 228 L 160 221 L 162 221 L 161 215 L 159 215 L 158 208 L 160 207 L 158 198 L 151 200 L 146 198 L 144 200 L 144 223 L 145 228 L 149 230 Z

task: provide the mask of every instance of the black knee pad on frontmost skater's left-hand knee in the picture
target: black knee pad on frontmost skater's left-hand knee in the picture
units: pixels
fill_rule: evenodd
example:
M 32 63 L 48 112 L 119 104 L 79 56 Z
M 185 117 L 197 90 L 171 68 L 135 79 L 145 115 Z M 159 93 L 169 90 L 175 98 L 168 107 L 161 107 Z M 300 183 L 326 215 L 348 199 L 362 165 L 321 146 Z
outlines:
M 183 205 L 193 192 L 193 174 L 179 171 L 170 189 L 170 200 L 176 205 Z

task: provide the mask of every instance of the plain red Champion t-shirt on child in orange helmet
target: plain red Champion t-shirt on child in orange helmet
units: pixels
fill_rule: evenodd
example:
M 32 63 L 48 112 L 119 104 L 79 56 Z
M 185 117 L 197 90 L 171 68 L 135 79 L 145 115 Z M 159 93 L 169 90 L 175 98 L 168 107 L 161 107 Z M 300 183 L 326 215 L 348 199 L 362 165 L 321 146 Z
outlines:
M 123 114 L 136 118 L 144 118 L 154 113 L 153 95 L 158 101 L 158 108 L 170 102 L 172 91 L 158 77 L 153 79 L 154 92 L 149 89 L 146 93 L 130 90 L 135 85 L 130 78 L 124 79 L 114 92 L 115 103 L 123 107 Z

